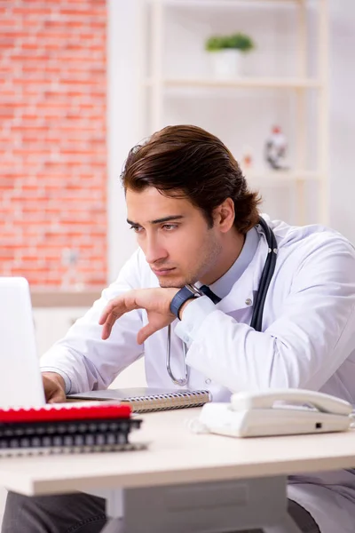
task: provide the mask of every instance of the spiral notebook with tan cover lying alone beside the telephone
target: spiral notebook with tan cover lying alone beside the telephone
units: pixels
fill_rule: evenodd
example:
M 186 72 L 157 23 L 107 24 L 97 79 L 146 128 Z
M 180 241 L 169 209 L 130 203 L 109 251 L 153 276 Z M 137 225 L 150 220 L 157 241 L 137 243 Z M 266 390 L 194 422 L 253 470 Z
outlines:
M 86 393 L 68 394 L 69 402 L 83 400 L 111 400 L 129 403 L 133 412 L 144 413 L 156 410 L 182 409 L 201 407 L 211 401 L 211 394 L 206 390 L 166 390 L 161 388 L 124 388 L 89 391 Z

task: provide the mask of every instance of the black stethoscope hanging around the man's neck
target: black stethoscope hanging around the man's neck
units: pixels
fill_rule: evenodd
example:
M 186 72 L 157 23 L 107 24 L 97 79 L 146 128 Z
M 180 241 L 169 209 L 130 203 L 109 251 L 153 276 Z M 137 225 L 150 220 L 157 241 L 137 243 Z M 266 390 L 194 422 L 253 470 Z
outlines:
M 259 288 L 256 293 L 256 298 L 254 301 L 254 309 L 253 309 L 253 315 L 251 317 L 250 327 L 253 328 L 256 331 L 261 331 L 262 323 L 263 323 L 263 314 L 264 314 L 264 304 L 265 304 L 265 298 L 267 291 L 269 289 L 270 282 L 272 281 L 272 275 L 275 271 L 276 266 L 276 258 L 277 258 L 277 242 L 276 237 L 271 229 L 264 219 L 262 217 L 259 218 L 258 222 L 259 226 L 263 228 L 264 235 L 266 238 L 266 243 L 268 244 L 268 251 L 267 251 L 267 257 L 264 264 L 263 272 L 261 274 L 260 282 L 259 282 Z M 171 381 L 174 385 L 177 386 L 185 386 L 187 385 L 188 378 L 189 378 L 189 370 L 186 364 L 186 353 L 187 348 L 185 343 L 183 343 L 183 352 L 184 352 L 184 362 L 185 362 L 185 377 L 177 379 L 175 378 L 174 374 L 172 373 L 171 367 L 170 367 L 170 353 L 171 353 L 171 326 L 168 326 L 168 343 L 167 343 L 167 354 L 166 354 L 166 368 L 168 370 L 168 374 L 171 378 Z

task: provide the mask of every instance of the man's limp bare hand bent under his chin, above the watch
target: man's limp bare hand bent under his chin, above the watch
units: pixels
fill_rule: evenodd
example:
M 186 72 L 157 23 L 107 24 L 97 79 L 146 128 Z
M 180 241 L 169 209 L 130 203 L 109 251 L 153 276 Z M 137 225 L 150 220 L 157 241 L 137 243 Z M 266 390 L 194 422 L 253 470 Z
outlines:
M 170 302 L 179 289 L 161 288 L 129 290 L 112 299 L 100 316 L 99 324 L 103 325 L 101 338 L 109 338 L 114 322 L 122 314 L 133 309 L 146 309 L 148 323 L 138 331 L 137 342 L 143 344 L 155 331 L 169 326 L 176 319 L 170 312 Z

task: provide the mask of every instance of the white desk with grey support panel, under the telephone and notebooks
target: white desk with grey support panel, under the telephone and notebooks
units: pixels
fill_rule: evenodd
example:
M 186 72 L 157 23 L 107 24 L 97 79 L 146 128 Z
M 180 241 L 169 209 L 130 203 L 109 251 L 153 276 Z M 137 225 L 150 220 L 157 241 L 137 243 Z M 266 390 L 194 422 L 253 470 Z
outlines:
M 142 415 L 142 429 L 131 434 L 132 442 L 150 442 L 142 451 L 0 459 L 0 485 L 28 496 L 74 490 L 104 496 L 113 518 L 125 507 L 129 533 L 263 525 L 268 533 L 298 533 L 286 513 L 287 475 L 355 466 L 352 431 L 233 439 L 191 433 L 185 421 L 198 414 Z

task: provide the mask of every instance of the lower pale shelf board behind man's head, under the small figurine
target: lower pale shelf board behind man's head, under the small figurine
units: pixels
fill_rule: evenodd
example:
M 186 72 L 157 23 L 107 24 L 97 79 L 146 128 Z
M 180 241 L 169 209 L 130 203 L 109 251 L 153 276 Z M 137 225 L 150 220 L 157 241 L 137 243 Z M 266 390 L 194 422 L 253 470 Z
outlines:
M 250 187 L 288 187 L 297 181 L 320 181 L 318 171 L 243 171 Z

